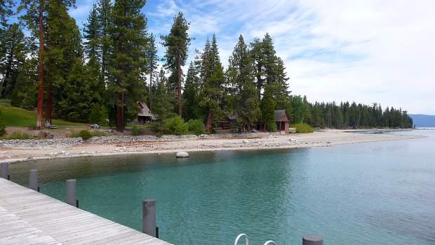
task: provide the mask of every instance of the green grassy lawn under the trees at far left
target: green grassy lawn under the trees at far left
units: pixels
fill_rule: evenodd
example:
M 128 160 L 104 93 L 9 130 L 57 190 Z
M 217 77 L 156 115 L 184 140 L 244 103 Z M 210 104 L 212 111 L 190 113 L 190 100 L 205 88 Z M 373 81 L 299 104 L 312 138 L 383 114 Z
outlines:
M 18 107 L 11 107 L 7 100 L 0 100 L 1 116 L 6 126 L 28 127 L 36 125 L 36 112 Z M 86 124 L 74 123 L 62 119 L 53 119 L 53 124 L 58 126 L 86 126 Z

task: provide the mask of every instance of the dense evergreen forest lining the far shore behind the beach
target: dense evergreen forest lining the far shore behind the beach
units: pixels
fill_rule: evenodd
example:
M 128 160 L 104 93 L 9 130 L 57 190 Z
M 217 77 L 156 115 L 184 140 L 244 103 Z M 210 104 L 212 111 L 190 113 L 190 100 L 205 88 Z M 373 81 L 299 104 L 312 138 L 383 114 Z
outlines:
M 413 127 L 400 108 L 292 95 L 269 34 L 250 41 L 240 35 L 227 67 L 213 35 L 187 64 L 193 37 L 182 12 L 157 36 L 148 31 L 145 0 L 98 0 L 83 29 L 68 13 L 74 0 L 15 5 L 0 1 L 0 95 L 14 107 L 36 108 L 36 126 L 55 118 L 123 131 L 143 101 L 160 124 L 199 120 L 208 133 L 225 115 L 236 115 L 239 131 L 252 125 L 276 131 L 274 110 L 287 110 L 292 124 L 316 128 Z

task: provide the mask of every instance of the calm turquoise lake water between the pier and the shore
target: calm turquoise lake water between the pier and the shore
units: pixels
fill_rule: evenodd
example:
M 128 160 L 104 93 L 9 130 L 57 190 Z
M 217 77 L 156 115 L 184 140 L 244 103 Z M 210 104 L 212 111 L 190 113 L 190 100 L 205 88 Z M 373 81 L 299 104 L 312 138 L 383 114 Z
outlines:
M 403 132 L 401 132 L 403 133 Z M 407 132 L 405 132 L 407 133 Z M 157 200 L 161 238 L 175 244 L 435 244 L 435 131 L 428 138 L 300 150 L 58 159 L 11 165 L 27 185 L 65 200 L 77 179 L 80 208 L 141 230 Z

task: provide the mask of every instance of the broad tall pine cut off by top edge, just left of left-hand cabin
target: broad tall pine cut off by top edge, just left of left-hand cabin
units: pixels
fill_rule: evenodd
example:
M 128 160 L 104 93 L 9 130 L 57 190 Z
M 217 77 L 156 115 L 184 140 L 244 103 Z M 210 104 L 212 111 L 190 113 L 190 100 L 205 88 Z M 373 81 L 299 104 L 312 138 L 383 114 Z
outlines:
M 116 105 L 116 131 L 123 131 L 125 120 L 137 114 L 137 102 L 143 99 L 145 81 L 145 50 L 147 47 L 147 22 L 141 9 L 145 0 L 116 0 L 112 8 L 110 27 L 111 57 L 109 90 Z

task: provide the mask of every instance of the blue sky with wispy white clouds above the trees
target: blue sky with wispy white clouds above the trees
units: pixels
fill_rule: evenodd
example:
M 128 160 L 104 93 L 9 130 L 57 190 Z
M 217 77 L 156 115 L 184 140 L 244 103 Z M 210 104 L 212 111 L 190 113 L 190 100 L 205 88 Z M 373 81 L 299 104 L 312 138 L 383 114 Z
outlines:
M 80 27 L 95 1 L 77 0 L 69 11 Z M 293 95 L 435 114 L 433 0 L 149 0 L 142 11 L 157 37 L 185 13 L 189 60 L 216 34 L 227 65 L 240 34 L 250 42 L 268 32 Z

